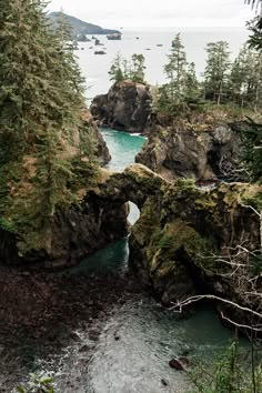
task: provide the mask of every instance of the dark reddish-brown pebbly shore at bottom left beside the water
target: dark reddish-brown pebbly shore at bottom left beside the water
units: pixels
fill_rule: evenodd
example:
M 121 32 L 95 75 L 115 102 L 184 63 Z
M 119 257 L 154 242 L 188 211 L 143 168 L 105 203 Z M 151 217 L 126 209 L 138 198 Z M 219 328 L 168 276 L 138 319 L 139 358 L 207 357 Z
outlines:
M 4 393 L 39 370 L 39 360 L 46 371 L 50 365 L 59 372 L 61 351 L 67 347 L 79 352 L 87 369 L 114 306 L 141 291 L 130 273 L 48 274 L 3 266 L 0 285 L 0 391 Z M 81 334 L 89 337 L 88 344 Z M 73 390 L 68 379 L 63 375 L 63 383 Z

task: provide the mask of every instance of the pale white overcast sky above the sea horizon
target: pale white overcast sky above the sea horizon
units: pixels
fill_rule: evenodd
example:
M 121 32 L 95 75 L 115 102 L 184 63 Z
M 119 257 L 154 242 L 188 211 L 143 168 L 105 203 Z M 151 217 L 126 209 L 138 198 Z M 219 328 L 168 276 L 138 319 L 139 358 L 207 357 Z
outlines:
M 253 12 L 244 0 L 51 0 L 50 11 L 103 28 L 244 27 Z

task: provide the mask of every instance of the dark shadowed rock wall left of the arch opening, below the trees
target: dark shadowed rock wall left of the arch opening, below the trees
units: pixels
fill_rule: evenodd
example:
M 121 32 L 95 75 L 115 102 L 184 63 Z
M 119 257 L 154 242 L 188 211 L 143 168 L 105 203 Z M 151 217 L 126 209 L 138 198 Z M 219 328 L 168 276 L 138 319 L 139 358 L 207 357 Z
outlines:
M 58 210 L 50 221 L 49 236 L 41 250 L 18 253 L 17 239 L 0 232 L 0 261 L 4 264 L 39 264 L 64 268 L 129 233 L 129 206 L 98 195 L 87 195 L 82 204 Z

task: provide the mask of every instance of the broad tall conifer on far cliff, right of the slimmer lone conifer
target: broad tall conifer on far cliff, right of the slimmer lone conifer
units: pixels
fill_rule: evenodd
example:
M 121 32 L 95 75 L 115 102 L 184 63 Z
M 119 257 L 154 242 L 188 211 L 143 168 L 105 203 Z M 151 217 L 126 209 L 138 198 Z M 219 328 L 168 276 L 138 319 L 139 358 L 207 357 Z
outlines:
M 225 41 L 210 42 L 206 47 L 208 60 L 204 70 L 205 99 L 221 103 L 226 93 L 230 67 L 229 44 Z

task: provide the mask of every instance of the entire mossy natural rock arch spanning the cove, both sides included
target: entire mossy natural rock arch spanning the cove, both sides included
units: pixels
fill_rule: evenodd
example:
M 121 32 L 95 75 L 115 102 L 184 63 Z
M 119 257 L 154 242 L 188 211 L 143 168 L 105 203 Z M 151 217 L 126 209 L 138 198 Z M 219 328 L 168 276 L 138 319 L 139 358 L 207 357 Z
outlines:
M 249 299 L 234 282 L 239 276 L 221 259 L 226 260 L 243 242 L 251 251 L 261 248 L 260 219 L 246 206 L 259 209 L 261 194 L 261 185 L 248 183 L 221 183 L 215 189 L 200 189 L 183 179 L 170 183 L 141 164 L 123 172 L 101 170 L 97 183 L 83 190 L 79 206 L 58 210 L 50 220 L 46 248 L 18 255 L 18 240 L 2 231 L 0 256 L 6 263 L 74 264 L 127 235 L 127 202 L 132 201 L 141 215 L 132 226 L 130 261 L 163 303 L 177 304 L 208 293 L 245 305 Z M 251 278 L 252 269 L 246 268 L 244 274 Z M 261 288 L 256 280 L 256 290 Z M 261 309 L 259 300 L 252 306 Z M 230 310 L 232 314 L 243 320 L 240 310 Z

